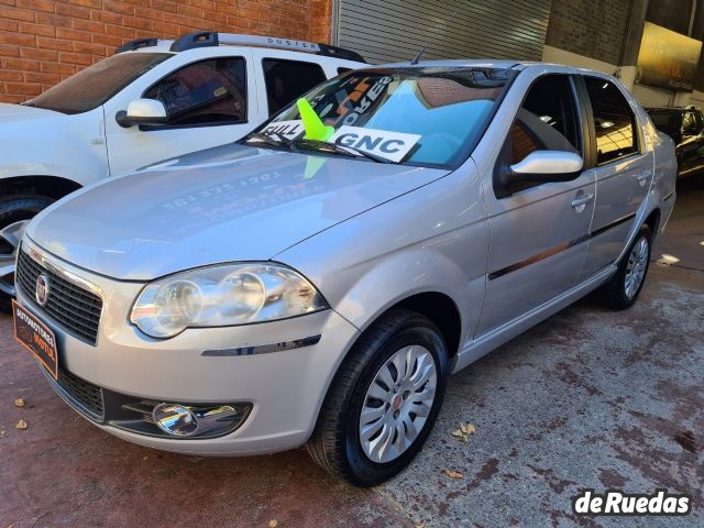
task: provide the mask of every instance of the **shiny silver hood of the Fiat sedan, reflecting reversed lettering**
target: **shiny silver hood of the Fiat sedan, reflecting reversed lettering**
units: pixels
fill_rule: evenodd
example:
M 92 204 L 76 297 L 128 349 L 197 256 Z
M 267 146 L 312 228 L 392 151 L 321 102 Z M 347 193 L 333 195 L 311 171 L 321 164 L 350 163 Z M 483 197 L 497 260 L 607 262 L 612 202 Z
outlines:
M 28 235 L 86 270 L 150 280 L 273 258 L 446 174 L 231 144 L 78 191 L 37 216 Z

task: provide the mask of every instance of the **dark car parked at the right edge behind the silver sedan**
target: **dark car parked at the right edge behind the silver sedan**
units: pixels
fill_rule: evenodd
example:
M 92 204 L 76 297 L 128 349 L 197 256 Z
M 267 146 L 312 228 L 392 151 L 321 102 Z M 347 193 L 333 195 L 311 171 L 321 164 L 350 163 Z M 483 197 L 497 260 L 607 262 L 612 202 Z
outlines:
M 656 128 L 674 140 L 678 177 L 704 169 L 704 116 L 698 108 L 648 108 Z

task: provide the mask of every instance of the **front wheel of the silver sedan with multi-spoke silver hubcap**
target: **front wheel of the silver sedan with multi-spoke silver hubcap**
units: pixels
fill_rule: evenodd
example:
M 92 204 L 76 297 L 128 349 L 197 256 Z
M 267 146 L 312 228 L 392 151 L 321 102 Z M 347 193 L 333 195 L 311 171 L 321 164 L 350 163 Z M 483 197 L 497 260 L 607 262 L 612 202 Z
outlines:
M 413 351 L 409 351 L 411 345 L 414 346 Z M 394 429 L 391 436 L 385 437 L 394 439 L 389 450 L 384 451 L 386 457 L 391 457 L 391 460 L 372 460 L 371 457 L 378 455 L 381 450 L 371 452 L 370 446 L 373 442 L 377 442 L 377 446 L 384 443 L 381 440 L 387 426 L 383 426 L 384 429 L 376 437 L 376 440 L 364 442 L 364 446 L 367 447 L 367 451 L 365 451 L 360 431 L 362 409 L 369 411 L 372 403 L 382 402 L 367 394 L 367 391 L 372 391 L 373 383 L 374 391 L 382 387 L 376 383 L 382 372 L 392 376 L 394 376 L 394 372 L 400 373 L 399 370 L 392 369 L 388 363 L 393 358 L 400 356 L 410 359 L 407 360 L 408 363 L 403 365 L 413 365 L 411 372 L 426 374 L 410 376 L 410 380 L 416 378 L 417 381 L 418 385 L 414 385 L 416 392 L 408 391 L 411 387 L 408 385 L 410 381 L 398 382 L 399 376 L 396 376 L 403 394 L 396 393 L 395 397 L 391 398 L 391 404 L 383 404 L 377 408 L 378 410 L 372 409 L 373 413 L 382 413 L 383 409 L 386 409 L 376 421 L 391 420 L 393 417 L 396 420 L 394 427 L 398 427 L 398 420 L 404 420 L 404 425 L 400 426 L 404 428 L 403 436 L 398 435 L 398 429 Z M 428 380 L 424 382 L 427 373 L 432 371 L 431 366 L 435 369 L 435 375 L 429 375 Z M 407 367 L 406 372 L 408 372 Z M 306 444 L 308 453 L 328 473 L 355 486 L 369 487 L 386 481 L 406 468 L 422 448 L 442 405 L 448 375 L 448 351 L 438 327 L 428 318 L 410 310 L 394 309 L 389 311 L 359 338 L 338 370 L 314 433 Z M 428 405 L 428 399 L 426 399 L 424 402 L 426 405 L 419 406 L 419 400 L 424 397 L 429 398 L 428 395 L 432 393 L 433 381 L 436 386 L 431 404 Z M 421 383 L 425 384 L 420 385 Z M 389 395 L 394 394 L 393 391 L 392 387 Z M 416 400 L 414 396 L 419 400 Z M 414 409 L 427 409 L 428 407 L 429 411 L 425 418 L 414 413 Z M 411 410 L 409 411 L 409 409 Z M 422 410 L 422 414 L 425 413 L 426 410 Z M 400 418 L 397 418 L 397 415 Z M 413 427 L 410 425 L 406 427 L 405 424 L 408 424 L 409 420 Z M 387 421 L 388 424 L 391 422 Z M 419 426 L 416 428 L 418 424 Z M 392 427 L 388 429 L 392 430 Z M 413 440 L 408 440 L 409 444 L 403 447 L 403 450 L 396 450 L 394 447 L 396 440 L 400 443 L 403 439 L 410 439 L 414 436 L 411 430 L 417 436 Z M 389 453 L 396 453 L 396 455 Z

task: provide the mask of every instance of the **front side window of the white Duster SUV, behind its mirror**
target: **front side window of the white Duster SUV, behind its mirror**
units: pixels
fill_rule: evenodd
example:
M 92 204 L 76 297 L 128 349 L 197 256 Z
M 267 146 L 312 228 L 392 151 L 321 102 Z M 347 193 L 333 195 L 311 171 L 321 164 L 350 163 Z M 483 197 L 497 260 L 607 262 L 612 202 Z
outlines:
M 144 92 L 164 103 L 169 127 L 246 121 L 246 68 L 242 57 L 189 64 Z

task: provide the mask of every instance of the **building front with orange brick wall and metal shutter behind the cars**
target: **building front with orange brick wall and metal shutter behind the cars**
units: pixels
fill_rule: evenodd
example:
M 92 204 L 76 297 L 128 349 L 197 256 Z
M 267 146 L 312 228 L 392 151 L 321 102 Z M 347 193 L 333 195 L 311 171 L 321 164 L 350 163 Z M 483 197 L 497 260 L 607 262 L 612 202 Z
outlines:
M 0 101 L 26 100 L 132 38 L 217 30 L 338 44 L 372 63 L 421 50 L 544 59 L 615 74 L 646 106 L 704 105 L 701 54 L 685 82 L 644 75 L 653 26 L 701 48 L 704 0 L 0 0 Z M 657 57 L 660 69 L 681 69 L 678 54 L 673 44 Z

